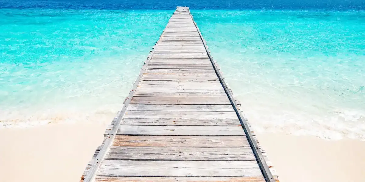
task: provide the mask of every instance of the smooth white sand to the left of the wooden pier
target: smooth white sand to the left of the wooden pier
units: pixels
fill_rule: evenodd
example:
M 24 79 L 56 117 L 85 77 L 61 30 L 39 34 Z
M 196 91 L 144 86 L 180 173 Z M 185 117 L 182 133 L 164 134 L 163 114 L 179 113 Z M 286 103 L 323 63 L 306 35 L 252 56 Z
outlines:
M 0 182 L 78 182 L 106 125 L 0 129 Z

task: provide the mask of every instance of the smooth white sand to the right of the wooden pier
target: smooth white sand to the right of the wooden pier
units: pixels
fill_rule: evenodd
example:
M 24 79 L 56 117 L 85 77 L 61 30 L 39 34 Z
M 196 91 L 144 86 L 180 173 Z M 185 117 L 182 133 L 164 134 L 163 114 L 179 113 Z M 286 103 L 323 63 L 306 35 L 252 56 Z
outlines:
M 365 142 L 258 134 L 281 182 L 363 182 Z

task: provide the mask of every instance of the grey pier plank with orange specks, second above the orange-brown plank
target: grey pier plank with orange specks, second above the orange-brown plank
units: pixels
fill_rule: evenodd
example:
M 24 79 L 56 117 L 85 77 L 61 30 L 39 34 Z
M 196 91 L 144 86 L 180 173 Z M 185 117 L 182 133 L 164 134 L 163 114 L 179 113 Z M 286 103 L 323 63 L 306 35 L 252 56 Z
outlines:
M 238 119 L 124 118 L 122 125 L 241 126 Z

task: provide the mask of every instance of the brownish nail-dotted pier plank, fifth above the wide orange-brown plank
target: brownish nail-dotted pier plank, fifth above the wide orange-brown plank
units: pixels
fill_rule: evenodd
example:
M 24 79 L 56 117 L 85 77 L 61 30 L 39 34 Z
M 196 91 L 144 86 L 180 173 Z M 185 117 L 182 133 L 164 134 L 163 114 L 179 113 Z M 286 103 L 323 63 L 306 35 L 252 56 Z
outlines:
M 148 97 L 134 96 L 131 104 L 231 105 L 227 97 Z

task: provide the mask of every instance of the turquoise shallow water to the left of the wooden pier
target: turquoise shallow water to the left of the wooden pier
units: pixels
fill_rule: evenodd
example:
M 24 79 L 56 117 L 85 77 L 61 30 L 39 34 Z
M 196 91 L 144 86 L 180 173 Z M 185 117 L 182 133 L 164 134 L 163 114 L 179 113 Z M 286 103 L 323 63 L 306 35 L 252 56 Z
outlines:
M 0 10 L 0 124 L 110 122 L 172 13 Z

